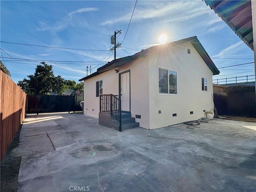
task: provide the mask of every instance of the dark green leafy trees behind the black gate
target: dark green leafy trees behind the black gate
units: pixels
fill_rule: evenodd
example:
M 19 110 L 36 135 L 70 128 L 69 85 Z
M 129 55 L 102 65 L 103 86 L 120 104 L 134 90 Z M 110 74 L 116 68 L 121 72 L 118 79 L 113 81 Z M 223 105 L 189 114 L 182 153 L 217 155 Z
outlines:
M 18 81 L 18 86 L 25 90 L 27 94 L 49 94 L 50 91 L 62 95 L 68 88 L 73 90 L 83 90 L 83 83 L 76 83 L 74 80 L 65 80 L 60 75 L 54 76 L 52 65 L 41 62 L 42 65 L 36 66 L 34 75 L 28 75 L 28 79 L 24 78 Z

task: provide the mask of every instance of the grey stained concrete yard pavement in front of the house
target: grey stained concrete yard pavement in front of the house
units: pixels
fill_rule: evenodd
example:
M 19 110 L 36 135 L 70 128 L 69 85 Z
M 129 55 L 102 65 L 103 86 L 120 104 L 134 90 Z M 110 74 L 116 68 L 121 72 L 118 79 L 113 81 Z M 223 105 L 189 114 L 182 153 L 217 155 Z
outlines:
M 118 132 L 83 114 L 27 116 L 18 192 L 256 191 L 255 123 Z

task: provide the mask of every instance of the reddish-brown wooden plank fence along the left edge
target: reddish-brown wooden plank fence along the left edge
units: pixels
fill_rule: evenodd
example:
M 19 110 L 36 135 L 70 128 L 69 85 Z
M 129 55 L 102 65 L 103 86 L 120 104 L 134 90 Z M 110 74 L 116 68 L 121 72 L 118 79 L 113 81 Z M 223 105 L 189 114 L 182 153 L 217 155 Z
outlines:
M 0 160 L 2 160 L 25 118 L 26 93 L 2 71 L 0 71 L 0 91 Z

